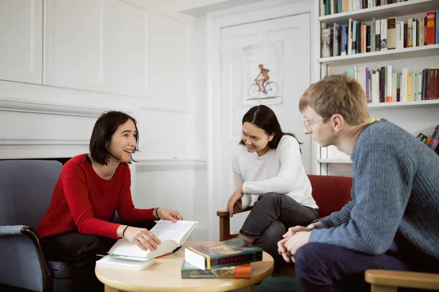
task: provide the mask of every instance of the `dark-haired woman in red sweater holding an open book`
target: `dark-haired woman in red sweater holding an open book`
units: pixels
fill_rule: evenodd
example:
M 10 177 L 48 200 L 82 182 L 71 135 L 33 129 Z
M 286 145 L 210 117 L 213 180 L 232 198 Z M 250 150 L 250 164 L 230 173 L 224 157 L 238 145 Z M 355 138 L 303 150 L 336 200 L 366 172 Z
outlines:
M 148 231 L 153 220 L 183 219 L 164 208 L 134 208 L 128 163 L 138 140 L 136 120 L 125 113 L 109 111 L 96 121 L 90 154 L 65 163 L 38 226 L 49 260 L 94 261 L 122 237 L 142 250 L 156 250 L 160 240 Z M 124 224 L 112 223 L 116 210 Z

